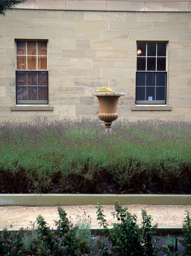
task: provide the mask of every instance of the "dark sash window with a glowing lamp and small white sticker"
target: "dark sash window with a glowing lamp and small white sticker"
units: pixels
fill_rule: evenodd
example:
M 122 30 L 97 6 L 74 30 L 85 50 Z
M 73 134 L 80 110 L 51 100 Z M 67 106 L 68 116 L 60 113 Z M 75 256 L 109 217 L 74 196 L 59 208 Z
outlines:
M 166 104 L 166 42 L 137 43 L 136 104 Z

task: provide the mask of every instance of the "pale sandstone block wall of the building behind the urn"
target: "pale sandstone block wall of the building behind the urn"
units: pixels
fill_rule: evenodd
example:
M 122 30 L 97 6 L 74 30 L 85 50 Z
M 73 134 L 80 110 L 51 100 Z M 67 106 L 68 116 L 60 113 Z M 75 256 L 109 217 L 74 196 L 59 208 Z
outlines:
M 0 122 L 97 118 L 91 94 L 103 86 L 125 93 L 119 118 L 191 121 L 190 11 L 190 1 L 30 0 L 6 12 L 0 17 Z M 48 105 L 16 105 L 16 39 L 48 41 Z M 142 40 L 167 42 L 166 105 L 135 104 L 136 42 Z

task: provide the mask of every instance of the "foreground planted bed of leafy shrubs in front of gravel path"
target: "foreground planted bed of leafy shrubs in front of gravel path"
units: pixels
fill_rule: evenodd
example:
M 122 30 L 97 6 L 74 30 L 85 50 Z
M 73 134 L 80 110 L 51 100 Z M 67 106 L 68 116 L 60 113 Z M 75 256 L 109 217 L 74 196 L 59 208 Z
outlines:
M 74 226 L 63 208 L 59 207 L 58 210 L 60 218 L 55 221 L 57 230 L 51 230 L 39 215 L 36 222 L 31 222 L 30 228 L 1 232 L 0 255 L 121 256 L 123 250 L 123 255 L 132 256 L 190 255 L 191 219 L 188 211 L 184 235 L 174 235 L 172 231 L 165 236 L 156 236 L 156 226 L 152 226 L 152 216 L 147 215 L 146 211 L 142 210 L 142 224 L 139 228 L 136 215 L 130 214 L 126 207 L 116 201 L 112 215 L 120 221 L 108 229 L 102 206 L 97 204 L 97 217 L 104 227 L 103 234 L 97 236 L 91 235 L 91 219 L 85 212 L 77 216 L 77 225 Z

